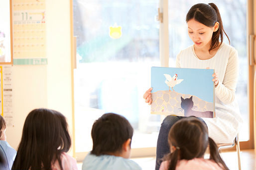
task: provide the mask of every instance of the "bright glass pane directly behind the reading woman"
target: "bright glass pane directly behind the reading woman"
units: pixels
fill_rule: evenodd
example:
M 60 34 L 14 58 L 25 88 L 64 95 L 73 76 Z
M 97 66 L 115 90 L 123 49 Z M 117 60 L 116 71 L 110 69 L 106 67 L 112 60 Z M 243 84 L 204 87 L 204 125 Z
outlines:
M 212 0 L 204 0 L 210 3 Z M 191 6 L 202 3 L 202 0 L 171 0 L 169 2 L 169 41 L 170 60 L 169 66 L 175 66 L 176 55 L 180 50 L 192 45 L 187 34 L 186 14 Z M 247 28 L 246 28 L 246 6 L 247 0 L 214 0 L 218 6 L 225 32 L 230 38 L 231 46 L 238 51 L 240 62 L 239 83 L 236 89 L 236 98 L 239 103 L 240 112 L 244 119 L 241 128 L 240 141 L 249 140 L 249 113 L 247 98 L 248 61 L 247 61 Z M 236 11 L 236 12 L 234 12 Z M 179 42 L 179 43 L 177 43 Z M 224 42 L 229 44 L 226 36 Z

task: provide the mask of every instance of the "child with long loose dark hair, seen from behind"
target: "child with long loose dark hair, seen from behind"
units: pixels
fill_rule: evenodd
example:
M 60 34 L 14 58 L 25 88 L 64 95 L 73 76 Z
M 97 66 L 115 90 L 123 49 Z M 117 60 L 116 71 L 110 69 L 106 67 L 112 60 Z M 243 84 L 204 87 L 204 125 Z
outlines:
M 78 170 L 69 156 L 71 139 L 66 117 L 53 110 L 28 113 L 12 170 Z

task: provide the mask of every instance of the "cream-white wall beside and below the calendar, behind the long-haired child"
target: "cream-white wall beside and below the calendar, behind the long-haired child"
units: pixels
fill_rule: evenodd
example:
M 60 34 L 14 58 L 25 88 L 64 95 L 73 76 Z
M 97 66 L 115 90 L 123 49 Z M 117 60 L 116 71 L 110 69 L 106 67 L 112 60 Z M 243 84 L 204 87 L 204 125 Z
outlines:
M 35 108 L 63 113 L 72 132 L 70 0 L 46 0 L 47 65 L 13 65 L 14 126 L 8 143 L 17 149 L 24 120 Z

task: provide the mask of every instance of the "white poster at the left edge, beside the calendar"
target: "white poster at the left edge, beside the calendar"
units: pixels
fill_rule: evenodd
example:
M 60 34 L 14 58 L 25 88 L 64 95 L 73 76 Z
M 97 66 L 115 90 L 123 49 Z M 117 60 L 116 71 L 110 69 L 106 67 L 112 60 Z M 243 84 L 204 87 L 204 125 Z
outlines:
M 10 2 L 1 0 L 0 5 L 0 63 L 11 63 Z

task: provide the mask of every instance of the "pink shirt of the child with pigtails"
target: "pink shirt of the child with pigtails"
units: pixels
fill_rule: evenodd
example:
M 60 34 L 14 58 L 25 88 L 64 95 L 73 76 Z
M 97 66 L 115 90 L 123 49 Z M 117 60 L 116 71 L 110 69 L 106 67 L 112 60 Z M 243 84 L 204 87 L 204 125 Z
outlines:
M 169 161 L 161 163 L 159 170 L 168 170 Z M 175 170 L 224 170 L 217 163 L 209 159 L 195 158 L 178 161 Z

